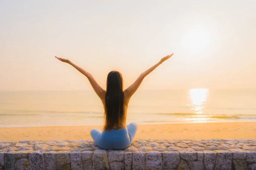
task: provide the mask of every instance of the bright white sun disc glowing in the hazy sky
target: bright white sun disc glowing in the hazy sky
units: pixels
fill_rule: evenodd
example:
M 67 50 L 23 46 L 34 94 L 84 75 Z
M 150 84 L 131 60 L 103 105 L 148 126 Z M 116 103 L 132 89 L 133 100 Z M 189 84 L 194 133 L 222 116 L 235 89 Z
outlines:
M 193 27 L 183 35 L 183 46 L 187 50 L 201 51 L 207 48 L 210 34 L 206 28 Z

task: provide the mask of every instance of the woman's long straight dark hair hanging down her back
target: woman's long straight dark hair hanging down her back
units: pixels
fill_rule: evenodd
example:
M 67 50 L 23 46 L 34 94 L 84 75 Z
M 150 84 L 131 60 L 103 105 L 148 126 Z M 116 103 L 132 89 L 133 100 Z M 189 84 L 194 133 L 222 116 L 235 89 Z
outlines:
M 125 111 L 122 74 L 118 71 L 111 71 L 107 78 L 104 130 L 121 128 L 124 119 Z

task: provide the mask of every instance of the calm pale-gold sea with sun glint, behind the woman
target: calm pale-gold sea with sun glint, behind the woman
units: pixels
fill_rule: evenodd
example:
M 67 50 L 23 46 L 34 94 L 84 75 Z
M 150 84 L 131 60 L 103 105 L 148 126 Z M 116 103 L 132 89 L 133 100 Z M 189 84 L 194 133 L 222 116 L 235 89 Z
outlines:
M 103 124 L 93 91 L 0 92 L 0 127 Z M 139 90 L 127 123 L 256 122 L 256 90 Z

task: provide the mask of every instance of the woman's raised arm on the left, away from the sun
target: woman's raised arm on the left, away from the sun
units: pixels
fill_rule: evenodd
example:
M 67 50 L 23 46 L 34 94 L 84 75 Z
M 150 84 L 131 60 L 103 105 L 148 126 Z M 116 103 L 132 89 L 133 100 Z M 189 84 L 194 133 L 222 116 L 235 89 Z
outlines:
M 102 100 L 102 102 L 104 104 L 104 101 L 105 101 L 105 90 L 102 87 L 100 87 L 100 85 L 96 82 L 96 80 L 93 78 L 93 76 L 90 73 L 88 73 L 87 71 L 85 71 L 81 67 L 75 65 L 69 59 L 63 59 L 63 58 L 59 58 L 59 57 L 56 57 L 56 56 L 55 56 L 55 58 L 59 59 L 62 62 L 66 62 L 66 63 L 72 65 L 81 74 L 84 74 L 84 76 L 86 76 L 88 78 L 90 84 L 92 85 L 93 90 L 96 92 L 96 94 L 99 96 L 99 98 Z

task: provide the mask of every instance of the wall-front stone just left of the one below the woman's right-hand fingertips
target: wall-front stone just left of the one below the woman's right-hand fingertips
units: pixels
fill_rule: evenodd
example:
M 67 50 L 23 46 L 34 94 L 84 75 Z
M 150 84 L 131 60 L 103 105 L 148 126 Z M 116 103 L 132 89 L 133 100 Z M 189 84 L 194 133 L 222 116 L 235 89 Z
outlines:
M 162 154 L 158 151 L 148 152 L 146 155 L 146 170 L 159 170 L 162 167 Z

